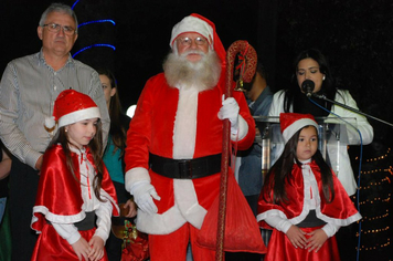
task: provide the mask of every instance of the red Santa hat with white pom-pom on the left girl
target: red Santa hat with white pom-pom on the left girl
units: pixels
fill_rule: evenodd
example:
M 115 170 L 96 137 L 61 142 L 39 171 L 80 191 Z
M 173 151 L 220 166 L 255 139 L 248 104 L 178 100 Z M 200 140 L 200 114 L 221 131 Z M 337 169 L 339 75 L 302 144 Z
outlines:
M 75 90 L 61 92 L 54 102 L 53 116 L 45 119 L 45 126 L 52 128 L 57 122 L 59 127 L 88 118 L 99 118 L 99 108 L 86 94 Z

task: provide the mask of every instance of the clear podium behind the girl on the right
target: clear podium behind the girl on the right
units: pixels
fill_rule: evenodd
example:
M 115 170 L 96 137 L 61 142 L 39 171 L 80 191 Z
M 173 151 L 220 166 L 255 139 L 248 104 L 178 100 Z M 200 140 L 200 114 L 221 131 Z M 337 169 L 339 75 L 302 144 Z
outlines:
M 284 152 L 285 142 L 279 117 L 254 116 L 255 143 L 262 148 L 262 174 L 268 171 Z M 318 148 L 336 175 L 340 171 L 340 147 L 349 145 L 347 128 L 357 127 L 357 118 L 316 117 L 318 123 Z M 352 125 L 352 126 L 351 126 Z

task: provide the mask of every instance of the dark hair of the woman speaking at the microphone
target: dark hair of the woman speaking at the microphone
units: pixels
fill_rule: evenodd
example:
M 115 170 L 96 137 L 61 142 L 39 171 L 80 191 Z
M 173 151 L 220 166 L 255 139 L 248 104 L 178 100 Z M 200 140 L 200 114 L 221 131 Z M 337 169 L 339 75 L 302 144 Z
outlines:
M 302 52 L 300 52 L 297 58 L 294 61 L 293 67 L 294 67 L 294 74 L 291 77 L 291 85 L 290 87 L 286 91 L 285 93 L 285 100 L 284 100 L 284 112 L 289 113 L 290 112 L 290 106 L 294 106 L 294 113 L 299 113 L 300 107 L 302 106 L 302 101 L 304 94 L 300 91 L 300 87 L 297 82 L 297 71 L 298 71 L 298 64 L 301 60 L 304 59 L 312 59 L 319 64 L 319 71 L 325 74 L 325 81 L 322 81 L 322 86 L 321 91 L 319 94 L 326 95 L 327 98 L 334 100 L 336 93 L 337 93 L 337 87 L 334 80 L 331 75 L 331 71 L 329 67 L 328 60 L 326 56 L 317 49 L 308 49 Z M 331 103 L 327 103 L 327 108 L 330 111 L 331 109 Z M 322 116 L 322 115 L 319 115 Z

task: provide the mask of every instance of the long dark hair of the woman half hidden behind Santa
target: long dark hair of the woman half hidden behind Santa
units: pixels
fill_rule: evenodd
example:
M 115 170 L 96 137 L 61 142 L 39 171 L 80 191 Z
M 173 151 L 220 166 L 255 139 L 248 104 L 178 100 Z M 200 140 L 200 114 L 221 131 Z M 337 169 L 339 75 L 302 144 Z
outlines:
M 123 157 L 126 146 L 127 133 L 126 129 L 123 127 L 124 124 L 120 121 L 120 115 L 123 112 L 119 98 L 119 90 L 117 87 L 115 75 L 109 70 L 98 69 L 97 72 L 99 75 L 107 76 L 110 81 L 110 87 L 116 88 L 115 95 L 110 97 L 110 104 L 108 108 L 110 117 L 109 135 L 115 145 L 115 150 L 113 153 L 116 153 L 117 149 L 120 149 L 120 157 Z

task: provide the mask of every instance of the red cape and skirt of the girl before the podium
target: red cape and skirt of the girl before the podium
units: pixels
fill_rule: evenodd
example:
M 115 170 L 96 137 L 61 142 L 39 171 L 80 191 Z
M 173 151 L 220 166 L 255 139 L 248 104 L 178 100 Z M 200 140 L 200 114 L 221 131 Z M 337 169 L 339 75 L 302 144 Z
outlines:
M 310 176 L 306 176 L 304 171 L 311 171 Z M 259 196 L 257 221 L 263 228 L 272 229 L 264 219 L 279 217 L 288 220 L 293 225 L 300 223 L 309 213 L 310 205 L 307 201 L 312 198 L 316 200 L 317 218 L 336 227 L 348 226 L 361 219 L 360 213 L 354 208 L 348 194 L 336 177 L 333 177 L 334 199 L 327 202 L 322 192 L 322 180 L 320 169 L 315 161 L 304 164 L 299 167 L 294 165 L 293 176 L 289 181 L 286 181 L 285 190 L 288 201 L 275 205 L 268 202 L 273 198 L 273 190 L 267 190 L 265 187 Z M 265 197 L 264 197 L 265 196 Z M 300 228 L 305 232 L 311 232 L 315 228 Z M 332 236 L 323 243 L 318 252 L 308 252 L 308 249 L 295 248 L 288 240 L 287 236 L 274 229 L 269 241 L 265 261 L 280 260 L 301 260 L 301 261 L 338 261 L 340 260 L 336 237 Z

